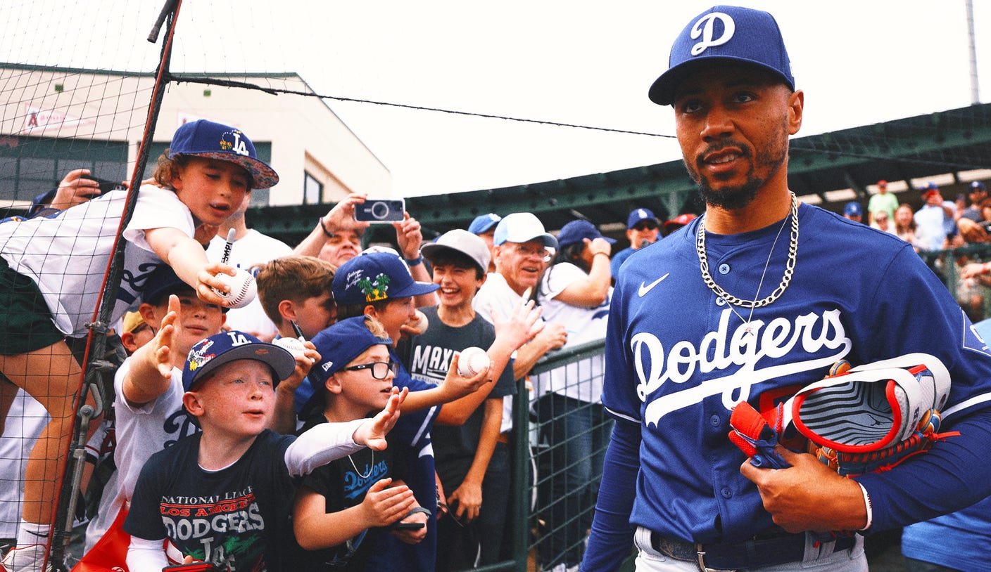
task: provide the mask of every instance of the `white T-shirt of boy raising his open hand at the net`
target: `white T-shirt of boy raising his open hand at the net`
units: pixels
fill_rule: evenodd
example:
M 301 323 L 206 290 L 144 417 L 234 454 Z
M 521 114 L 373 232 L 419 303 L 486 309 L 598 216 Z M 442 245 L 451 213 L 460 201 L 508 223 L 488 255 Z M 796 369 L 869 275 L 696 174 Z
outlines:
M 117 417 L 117 478 L 107 483 L 96 517 L 86 529 L 86 550 L 103 536 L 125 502 L 130 502 L 138 475 L 149 457 L 199 429 L 182 410 L 182 370 L 172 368 L 172 381 L 158 399 L 141 407 L 124 400 L 124 376 L 131 369 L 129 357 L 114 375 L 114 413 Z

